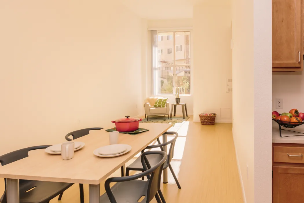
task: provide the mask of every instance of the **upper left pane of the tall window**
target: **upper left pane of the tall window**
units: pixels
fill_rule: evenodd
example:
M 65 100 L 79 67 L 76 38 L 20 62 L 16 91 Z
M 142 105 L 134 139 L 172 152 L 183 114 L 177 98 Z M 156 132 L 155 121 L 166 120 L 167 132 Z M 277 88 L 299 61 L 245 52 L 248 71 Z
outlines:
M 158 50 L 164 50 L 158 53 L 158 67 L 164 67 L 173 64 L 173 32 L 159 32 L 158 39 L 164 37 L 165 40 L 158 40 Z M 169 40 L 166 40 L 169 39 Z

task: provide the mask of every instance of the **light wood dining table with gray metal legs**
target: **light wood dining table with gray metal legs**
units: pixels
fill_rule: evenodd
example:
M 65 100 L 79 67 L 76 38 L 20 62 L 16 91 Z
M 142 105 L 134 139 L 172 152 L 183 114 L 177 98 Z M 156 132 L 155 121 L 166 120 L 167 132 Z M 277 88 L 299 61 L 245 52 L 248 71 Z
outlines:
M 103 158 L 93 154 L 95 149 L 109 145 L 109 132 L 106 131 L 112 128 L 109 126 L 102 130 L 90 131 L 88 135 L 75 139 L 84 142 L 85 146 L 75 151 L 72 159 L 63 160 L 61 155 L 48 154 L 44 149 L 38 149 L 30 152 L 24 159 L 1 166 L 0 177 L 7 179 L 7 202 L 19 203 L 19 179 L 25 179 L 89 184 L 89 202 L 99 203 L 102 180 L 119 168 L 125 169 L 125 164 L 130 159 L 168 131 L 172 124 L 140 123 L 139 127 L 149 131 L 136 135 L 119 133 L 118 144 L 132 147 L 130 152 L 121 156 Z M 162 137 L 163 142 L 167 142 L 167 135 Z M 166 147 L 164 151 L 167 151 Z M 163 171 L 163 182 L 168 182 L 167 170 Z

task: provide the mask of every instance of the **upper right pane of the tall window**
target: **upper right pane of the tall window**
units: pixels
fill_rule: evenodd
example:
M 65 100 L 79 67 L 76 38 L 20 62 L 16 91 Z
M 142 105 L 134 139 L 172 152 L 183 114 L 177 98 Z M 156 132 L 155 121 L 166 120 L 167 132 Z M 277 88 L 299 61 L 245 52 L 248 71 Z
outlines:
M 191 64 L 190 44 L 190 32 L 175 32 L 175 64 Z

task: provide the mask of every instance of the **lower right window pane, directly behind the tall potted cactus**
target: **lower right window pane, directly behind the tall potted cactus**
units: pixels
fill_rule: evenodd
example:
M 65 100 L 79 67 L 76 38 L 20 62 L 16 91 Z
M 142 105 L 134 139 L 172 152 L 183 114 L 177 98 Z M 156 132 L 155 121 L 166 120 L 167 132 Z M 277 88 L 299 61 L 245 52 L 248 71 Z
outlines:
M 180 94 L 190 94 L 190 66 L 175 66 L 175 84 Z

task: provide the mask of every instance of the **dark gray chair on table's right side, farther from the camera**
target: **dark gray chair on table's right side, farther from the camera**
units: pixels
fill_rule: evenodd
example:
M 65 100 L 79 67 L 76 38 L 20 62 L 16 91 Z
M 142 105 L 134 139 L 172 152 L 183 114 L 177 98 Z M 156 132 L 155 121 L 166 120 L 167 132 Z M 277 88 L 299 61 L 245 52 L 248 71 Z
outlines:
M 170 148 L 169 148 L 169 153 L 168 153 L 168 158 L 165 162 L 165 165 L 164 165 L 164 168 L 163 170 L 165 170 L 166 168 L 169 167 L 173 177 L 174 177 L 174 180 L 177 184 L 177 187 L 179 189 L 181 189 L 181 185 L 179 184 L 178 180 L 177 180 L 177 177 L 172 169 L 172 166 L 170 164 L 172 158 L 173 158 L 173 155 L 174 155 L 174 146 L 175 146 L 175 141 L 178 137 L 178 133 L 177 132 L 165 132 L 164 135 L 168 135 L 168 134 L 173 134 L 175 135 L 175 137 L 173 139 L 171 139 L 170 141 L 168 142 L 164 142 L 164 143 L 161 143 L 161 141 L 159 140 L 159 138 L 157 138 L 157 142 L 158 142 L 158 145 L 149 145 L 145 148 L 146 149 L 153 149 L 153 148 L 158 148 L 160 147 L 161 148 L 161 151 L 164 151 L 163 147 L 164 146 L 167 146 L 170 144 Z M 149 160 L 149 163 L 151 164 L 151 166 L 154 166 L 156 163 L 159 162 L 159 157 L 155 156 L 155 155 L 149 155 L 147 156 L 147 159 Z M 129 175 L 129 171 L 130 170 L 135 170 L 135 171 L 143 171 L 143 167 L 140 163 L 140 158 L 137 158 L 133 163 L 131 163 L 128 167 L 126 167 L 126 176 Z

